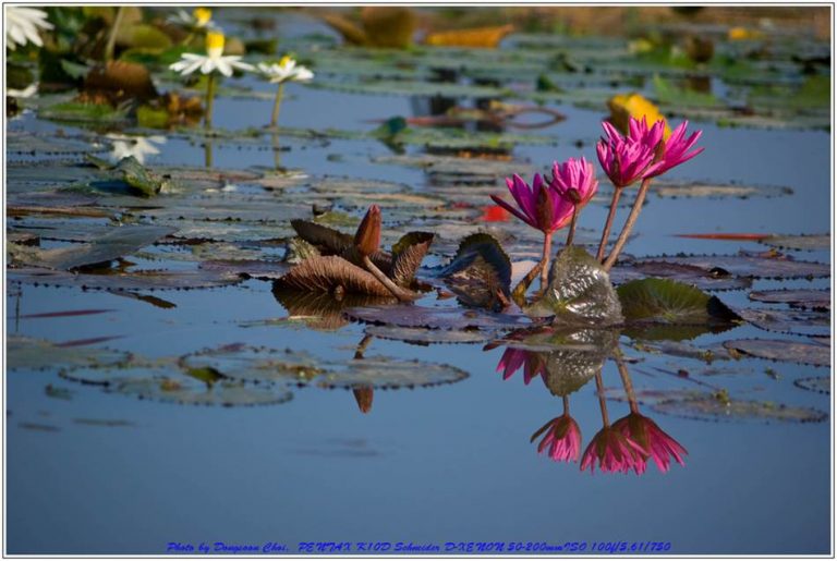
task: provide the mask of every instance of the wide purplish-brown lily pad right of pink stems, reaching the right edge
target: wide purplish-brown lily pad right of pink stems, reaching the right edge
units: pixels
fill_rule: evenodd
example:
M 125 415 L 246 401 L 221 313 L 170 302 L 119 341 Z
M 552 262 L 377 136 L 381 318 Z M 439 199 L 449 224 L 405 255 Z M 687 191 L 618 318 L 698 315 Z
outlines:
M 690 255 L 662 256 L 638 259 L 636 263 L 663 261 L 699 267 L 708 273 L 755 279 L 800 279 L 828 277 L 830 266 L 815 261 L 797 260 L 781 254 Z

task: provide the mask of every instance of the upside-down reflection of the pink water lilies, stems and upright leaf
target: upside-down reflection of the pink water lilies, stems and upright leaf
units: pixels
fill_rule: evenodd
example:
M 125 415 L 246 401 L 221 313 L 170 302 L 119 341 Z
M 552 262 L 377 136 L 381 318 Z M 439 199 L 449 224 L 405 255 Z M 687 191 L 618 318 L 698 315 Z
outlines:
M 642 475 L 650 460 L 660 472 L 668 472 L 674 459 L 686 465 L 686 449 L 664 432 L 650 417 L 640 413 L 633 391 L 631 376 L 616 346 L 618 333 L 614 330 L 584 329 L 580 331 L 553 331 L 549 328 L 520 331 L 509 337 L 497 364 L 502 379 L 508 380 L 518 370 L 523 370 L 523 383 L 529 385 L 539 377 L 545 387 L 561 398 L 563 413 L 547 422 L 532 435 L 534 442 L 544 435 L 537 447 L 538 452 L 547 451 L 556 462 L 577 462 L 581 449 L 581 428 L 570 416 L 569 395 L 578 392 L 591 379 L 596 381 L 596 394 L 602 413 L 602 428 L 590 440 L 581 460 L 581 469 L 595 472 L 596 465 L 604 473 L 628 473 Z M 494 345 L 488 345 L 494 347 Z M 607 357 L 618 367 L 630 413 L 610 422 L 602 370 Z M 580 398 L 579 398 L 580 399 Z

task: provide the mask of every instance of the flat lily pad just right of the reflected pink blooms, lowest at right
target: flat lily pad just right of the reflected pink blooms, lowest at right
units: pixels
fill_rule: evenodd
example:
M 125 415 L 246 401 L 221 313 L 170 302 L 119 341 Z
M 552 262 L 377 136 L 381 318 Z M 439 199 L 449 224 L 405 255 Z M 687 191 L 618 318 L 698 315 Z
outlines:
M 657 413 L 701 420 L 762 420 L 766 423 L 821 423 L 828 414 L 809 407 L 797 407 L 768 401 L 719 400 L 701 395 L 683 400 L 660 401 L 651 405 Z

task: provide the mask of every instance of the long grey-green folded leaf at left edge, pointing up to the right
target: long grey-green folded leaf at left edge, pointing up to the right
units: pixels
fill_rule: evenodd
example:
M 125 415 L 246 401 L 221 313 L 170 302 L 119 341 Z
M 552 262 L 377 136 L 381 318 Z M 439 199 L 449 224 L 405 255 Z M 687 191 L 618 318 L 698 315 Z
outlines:
M 71 270 L 131 255 L 172 232 L 174 229 L 166 227 L 124 225 L 113 228 L 87 244 L 54 249 L 26 248 L 15 253 L 14 258 L 25 265 Z

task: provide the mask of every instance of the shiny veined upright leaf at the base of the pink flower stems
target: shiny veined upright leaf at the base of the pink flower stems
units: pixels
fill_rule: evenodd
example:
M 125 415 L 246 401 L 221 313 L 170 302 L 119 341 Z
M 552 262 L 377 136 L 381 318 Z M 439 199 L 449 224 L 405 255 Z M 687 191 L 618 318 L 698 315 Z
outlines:
M 554 325 L 602 327 L 622 320 L 619 297 L 607 271 L 577 246 L 558 253 L 545 294 L 525 312 L 534 317 L 554 316 Z

